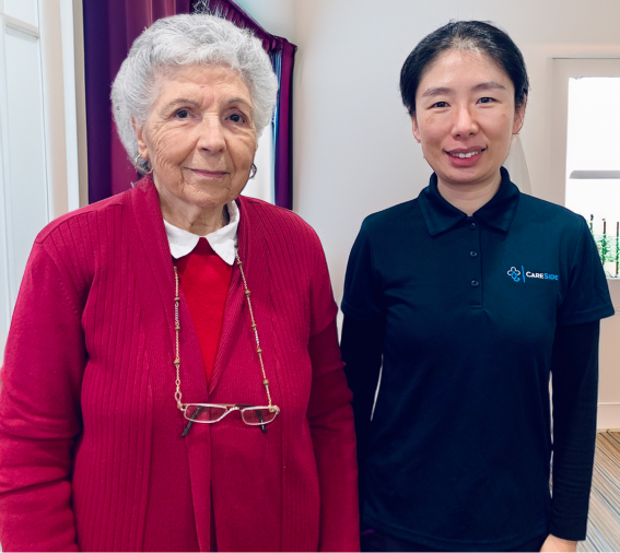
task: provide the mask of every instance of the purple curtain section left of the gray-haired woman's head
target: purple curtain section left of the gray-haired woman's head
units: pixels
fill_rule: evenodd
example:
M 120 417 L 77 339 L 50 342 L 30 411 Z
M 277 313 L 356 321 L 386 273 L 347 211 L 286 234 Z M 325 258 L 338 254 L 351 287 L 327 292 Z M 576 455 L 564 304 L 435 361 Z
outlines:
M 155 20 L 189 13 L 190 0 L 83 0 L 89 202 L 122 192 L 137 173 L 116 132 L 110 86 L 133 40 Z

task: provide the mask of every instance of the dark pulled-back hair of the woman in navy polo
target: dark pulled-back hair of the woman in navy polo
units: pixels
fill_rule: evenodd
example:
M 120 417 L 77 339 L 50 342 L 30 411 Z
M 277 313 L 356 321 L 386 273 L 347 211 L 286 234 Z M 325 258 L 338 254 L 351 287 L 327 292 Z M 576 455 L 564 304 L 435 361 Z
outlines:
M 512 38 L 484 21 L 452 21 L 422 38 L 400 70 L 400 94 L 409 115 L 416 113 L 416 92 L 424 72 L 437 56 L 451 49 L 487 54 L 513 82 L 515 107 L 525 104 L 529 79 L 523 55 Z

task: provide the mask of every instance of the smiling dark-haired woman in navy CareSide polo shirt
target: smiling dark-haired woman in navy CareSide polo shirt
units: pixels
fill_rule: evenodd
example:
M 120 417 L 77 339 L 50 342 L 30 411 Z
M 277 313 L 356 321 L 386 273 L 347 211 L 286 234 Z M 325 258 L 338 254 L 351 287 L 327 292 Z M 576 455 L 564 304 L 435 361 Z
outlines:
M 596 246 L 583 217 L 520 193 L 502 167 L 528 93 L 505 33 L 445 25 L 400 83 L 434 174 L 416 200 L 364 221 L 347 270 L 362 549 L 574 550 L 599 319 L 613 313 Z

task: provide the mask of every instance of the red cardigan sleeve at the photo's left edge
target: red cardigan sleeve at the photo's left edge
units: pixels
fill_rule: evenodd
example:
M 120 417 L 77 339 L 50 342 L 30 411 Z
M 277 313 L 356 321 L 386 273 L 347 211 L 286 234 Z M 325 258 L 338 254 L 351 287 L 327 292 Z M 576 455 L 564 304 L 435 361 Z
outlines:
M 54 246 L 52 246 L 54 247 Z M 85 364 L 79 291 L 44 244 L 28 260 L 0 392 L 0 542 L 4 551 L 75 551 L 71 455 Z

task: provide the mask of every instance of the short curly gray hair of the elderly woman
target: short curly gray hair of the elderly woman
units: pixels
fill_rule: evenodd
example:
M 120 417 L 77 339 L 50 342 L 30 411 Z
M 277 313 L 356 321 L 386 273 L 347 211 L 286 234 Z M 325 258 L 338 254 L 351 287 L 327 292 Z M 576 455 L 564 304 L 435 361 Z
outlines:
M 257 138 L 269 125 L 278 79 L 262 43 L 250 31 L 214 15 L 173 15 L 155 21 L 134 40 L 112 86 L 114 120 L 130 160 L 138 156 L 131 120 L 147 120 L 162 71 L 194 64 L 238 71 L 254 103 Z

